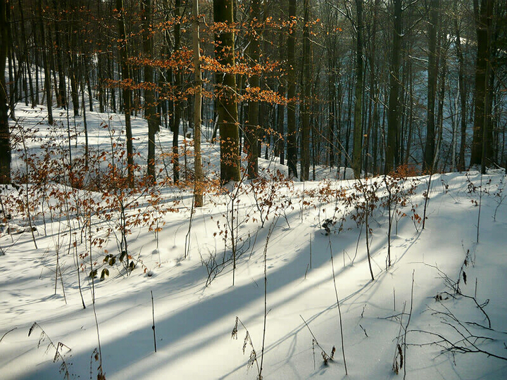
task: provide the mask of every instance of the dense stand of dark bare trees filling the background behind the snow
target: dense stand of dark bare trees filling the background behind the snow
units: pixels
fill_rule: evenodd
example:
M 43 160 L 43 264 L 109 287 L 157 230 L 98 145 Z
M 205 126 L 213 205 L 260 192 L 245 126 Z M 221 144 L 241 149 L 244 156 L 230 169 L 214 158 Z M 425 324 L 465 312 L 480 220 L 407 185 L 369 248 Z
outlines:
M 127 134 L 131 116 L 148 120 L 144 164 L 154 179 L 156 132 L 170 127 L 170 175 L 187 179 L 179 141 L 195 128 L 198 109 L 190 0 L 1 5 L 3 173 L 10 156 L 5 120 L 15 117 L 17 103 L 44 104 L 52 123 L 54 104 L 72 106 L 72 117 L 92 110 L 96 99 L 101 112 L 125 113 Z M 301 179 L 311 179 L 316 165 L 346 165 L 359 177 L 401 164 L 437 171 L 506 163 L 501 1 L 199 5 L 206 20 L 201 120 L 218 131 L 222 182 L 239 179 L 241 152 L 251 178 L 260 156 Z M 135 152 L 127 150 L 132 167 Z

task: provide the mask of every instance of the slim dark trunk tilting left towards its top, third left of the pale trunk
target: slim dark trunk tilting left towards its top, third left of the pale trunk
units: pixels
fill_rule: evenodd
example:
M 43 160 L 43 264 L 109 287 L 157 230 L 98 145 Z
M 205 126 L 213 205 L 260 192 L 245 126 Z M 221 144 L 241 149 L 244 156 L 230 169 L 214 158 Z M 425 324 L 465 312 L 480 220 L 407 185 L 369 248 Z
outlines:
M 125 8 L 123 0 L 116 0 L 116 9 L 118 14 L 118 30 L 120 32 L 120 65 L 123 80 L 123 112 L 125 113 L 125 134 L 127 137 L 127 170 L 129 186 L 134 186 L 134 148 L 132 146 L 132 123 L 130 122 L 130 112 L 132 108 L 132 90 L 130 89 L 129 68 L 127 65 L 127 32 L 125 31 Z

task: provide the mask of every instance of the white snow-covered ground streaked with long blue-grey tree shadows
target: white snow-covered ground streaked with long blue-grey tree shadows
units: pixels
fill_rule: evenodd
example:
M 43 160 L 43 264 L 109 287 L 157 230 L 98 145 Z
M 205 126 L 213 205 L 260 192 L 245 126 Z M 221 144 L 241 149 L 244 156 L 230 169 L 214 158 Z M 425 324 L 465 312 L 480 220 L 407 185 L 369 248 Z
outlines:
M 16 113 L 25 129 L 39 128 L 42 140 L 26 144 L 40 155 L 41 141 L 56 133 L 44 125 L 45 110 L 19 106 Z M 66 113 L 55 114 L 66 134 Z M 122 120 L 87 113 L 94 151 L 108 150 L 111 130 L 122 136 Z M 79 132 L 77 148 L 73 145 L 78 157 L 82 118 L 75 124 L 70 118 L 69 125 Z M 136 160 L 144 165 L 146 123 L 137 118 L 133 125 Z M 163 129 L 158 153 L 169 152 L 172 139 Z M 218 146 L 203 141 L 203 151 L 205 172 L 212 176 L 219 166 Z M 15 170 L 23 171 L 23 165 L 14 160 Z M 162 158 L 158 167 L 164 167 Z M 318 182 L 282 184 L 272 178 L 285 167 L 275 160 L 260 160 L 260 167 L 266 186 L 244 181 L 229 194 L 215 189 L 196 210 L 192 189 L 161 189 L 161 204 L 173 208 L 162 215 L 161 232 L 157 236 L 139 225 L 128 236 L 137 267 L 127 276 L 119 260 L 104 262 L 106 255 L 119 255 L 111 234 L 101 248 L 92 246 L 99 277 L 104 268 L 110 273 L 94 284 L 85 255 L 88 235 L 77 212 L 67 217 L 46 210 L 43 218 L 37 204 L 32 210 L 37 248 L 30 229 L 25 230 L 27 219 L 13 212 L 8 224 L 19 229 L 7 234 L 4 224 L 0 236 L 0 378 L 62 379 L 68 373 L 96 379 L 100 360 L 106 379 L 256 379 L 261 366 L 263 379 L 394 379 L 405 371 L 407 379 L 507 378 L 503 170 L 491 170 L 482 179 L 477 172 L 432 176 L 424 229 L 418 220 L 429 178 L 406 180 L 404 205 L 396 205 L 401 214 L 393 217 L 392 266 L 387 268 L 389 210 L 381 204 L 388 196 L 382 177 L 363 180 L 361 187 L 350 179 L 325 179 L 335 177 L 336 168 L 318 168 Z M 373 281 L 365 225 L 353 220 L 363 197 L 352 199 L 358 189 L 372 186 L 380 198 L 368 220 Z M 1 193 L 6 208 L 8 199 L 19 196 L 24 202 L 23 189 L 9 186 Z M 84 191 L 75 194 L 87 197 Z M 101 200 L 101 194 L 88 195 Z M 46 204 L 56 202 L 50 198 Z M 117 214 L 112 215 L 108 222 L 93 215 L 92 233 L 105 237 L 108 227 L 115 229 Z M 212 262 L 216 270 L 210 276 Z M 76 265 L 82 270 L 85 309 Z M 333 347 L 333 359 L 323 360 L 322 351 L 332 355 Z

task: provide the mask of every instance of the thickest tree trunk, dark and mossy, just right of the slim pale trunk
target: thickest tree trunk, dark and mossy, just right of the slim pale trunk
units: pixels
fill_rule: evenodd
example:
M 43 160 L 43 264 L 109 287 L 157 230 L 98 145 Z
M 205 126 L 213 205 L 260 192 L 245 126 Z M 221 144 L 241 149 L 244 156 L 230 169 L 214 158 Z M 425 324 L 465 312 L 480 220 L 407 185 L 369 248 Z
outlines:
M 215 51 L 218 62 L 226 68 L 223 82 L 217 83 L 220 97 L 217 101 L 218 125 L 220 127 L 220 182 L 239 181 L 239 130 L 236 98 L 236 75 L 234 69 L 234 22 L 233 0 L 213 0 L 215 23 L 226 27 L 215 34 Z M 218 75 L 215 75 L 215 78 Z

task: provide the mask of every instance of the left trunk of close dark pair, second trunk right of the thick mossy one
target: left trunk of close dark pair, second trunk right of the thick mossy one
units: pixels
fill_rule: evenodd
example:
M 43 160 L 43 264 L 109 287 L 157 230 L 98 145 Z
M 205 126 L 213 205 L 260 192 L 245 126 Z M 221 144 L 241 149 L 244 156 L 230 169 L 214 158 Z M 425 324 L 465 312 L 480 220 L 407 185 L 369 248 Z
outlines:
M 296 0 L 289 0 L 289 20 L 296 21 Z M 289 28 L 287 38 L 287 164 L 289 177 L 297 177 L 296 144 L 296 29 Z

